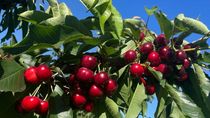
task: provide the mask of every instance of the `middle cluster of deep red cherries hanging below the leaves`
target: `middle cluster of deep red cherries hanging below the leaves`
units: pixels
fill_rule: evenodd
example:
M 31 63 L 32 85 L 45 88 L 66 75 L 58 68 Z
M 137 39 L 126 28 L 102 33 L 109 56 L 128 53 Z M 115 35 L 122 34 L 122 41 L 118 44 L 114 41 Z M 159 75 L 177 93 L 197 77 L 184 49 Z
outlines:
M 94 74 L 98 65 L 97 58 L 84 55 L 74 74 L 69 77 L 69 84 L 73 87 L 71 101 L 76 108 L 91 112 L 94 101 L 105 96 L 111 96 L 117 90 L 118 84 L 111 79 L 107 72 L 99 71 Z

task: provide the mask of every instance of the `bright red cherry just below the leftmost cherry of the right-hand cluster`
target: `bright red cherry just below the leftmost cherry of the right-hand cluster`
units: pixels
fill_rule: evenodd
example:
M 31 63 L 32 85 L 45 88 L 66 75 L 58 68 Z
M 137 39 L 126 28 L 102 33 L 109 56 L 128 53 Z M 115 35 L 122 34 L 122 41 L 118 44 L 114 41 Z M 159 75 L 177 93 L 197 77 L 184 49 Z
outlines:
M 139 63 L 133 63 L 130 66 L 130 73 L 131 73 L 131 75 L 133 75 L 135 77 L 141 77 L 142 74 L 144 73 L 144 68 Z

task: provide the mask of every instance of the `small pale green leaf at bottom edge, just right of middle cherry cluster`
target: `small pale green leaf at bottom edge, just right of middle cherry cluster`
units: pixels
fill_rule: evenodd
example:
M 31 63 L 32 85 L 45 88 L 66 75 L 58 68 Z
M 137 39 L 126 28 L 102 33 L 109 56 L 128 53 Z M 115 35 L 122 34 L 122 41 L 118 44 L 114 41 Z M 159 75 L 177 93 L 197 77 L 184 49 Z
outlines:
M 105 98 L 105 105 L 107 108 L 107 111 L 110 113 L 110 115 L 113 118 L 121 118 L 118 105 L 110 98 Z

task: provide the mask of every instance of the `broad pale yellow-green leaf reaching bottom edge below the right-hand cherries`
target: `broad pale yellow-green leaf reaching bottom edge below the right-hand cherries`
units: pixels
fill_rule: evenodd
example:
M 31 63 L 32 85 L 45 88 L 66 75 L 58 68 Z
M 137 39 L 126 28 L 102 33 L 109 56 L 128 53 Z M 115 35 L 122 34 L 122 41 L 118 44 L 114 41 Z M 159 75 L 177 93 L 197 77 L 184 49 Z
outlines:
M 142 103 L 147 98 L 145 94 L 144 85 L 137 85 L 136 90 L 134 92 L 131 103 L 128 107 L 128 111 L 126 114 L 126 118 L 136 118 L 139 112 L 142 110 Z

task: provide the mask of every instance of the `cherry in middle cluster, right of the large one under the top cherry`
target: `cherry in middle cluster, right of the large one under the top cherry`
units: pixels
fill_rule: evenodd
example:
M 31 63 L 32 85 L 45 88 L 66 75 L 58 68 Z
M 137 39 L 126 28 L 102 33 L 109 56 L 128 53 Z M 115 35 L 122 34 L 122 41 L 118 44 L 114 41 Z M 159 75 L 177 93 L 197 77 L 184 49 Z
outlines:
M 97 85 L 103 86 L 109 79 L 109 75 L 106 72 L 99 72 L 94 76 L 94 82 Z

